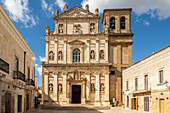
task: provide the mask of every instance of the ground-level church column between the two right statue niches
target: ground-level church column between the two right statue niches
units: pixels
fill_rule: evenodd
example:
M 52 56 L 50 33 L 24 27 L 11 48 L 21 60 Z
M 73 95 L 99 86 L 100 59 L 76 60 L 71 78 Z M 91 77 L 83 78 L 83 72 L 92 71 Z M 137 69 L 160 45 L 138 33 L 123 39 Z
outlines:
M 96 85 L 95 85 L 95 106 L 100 106 L 100 73 L 95 72 Z

